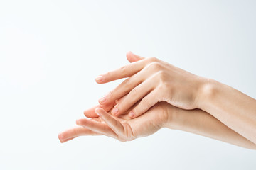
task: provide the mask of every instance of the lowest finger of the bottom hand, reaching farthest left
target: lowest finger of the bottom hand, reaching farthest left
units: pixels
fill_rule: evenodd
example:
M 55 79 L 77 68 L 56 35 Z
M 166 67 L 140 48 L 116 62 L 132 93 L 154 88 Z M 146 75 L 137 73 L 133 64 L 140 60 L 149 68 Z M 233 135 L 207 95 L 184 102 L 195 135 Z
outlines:
M 60 142 L 66 142 L 68 140 L 72 140 L 75 137 L 82 136 L 82 135 L 100 135 L 97 132 L 93 132 L 87 128 L 82 127 L 75 127 L 69 130 L 65 130 L 58 135 Z

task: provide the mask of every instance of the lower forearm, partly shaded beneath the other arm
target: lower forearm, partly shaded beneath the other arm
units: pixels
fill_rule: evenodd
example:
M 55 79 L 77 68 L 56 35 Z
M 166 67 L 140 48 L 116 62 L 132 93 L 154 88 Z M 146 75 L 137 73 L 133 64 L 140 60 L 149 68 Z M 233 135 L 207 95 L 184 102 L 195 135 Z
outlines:
M 242 137 L 242 135 L 200 109 L 171 111 L 169 115 L 169 121 L 165 125 L 166 128 L 192 132 L 240 147 L 256 149 L 256 145 L 250 140 Z

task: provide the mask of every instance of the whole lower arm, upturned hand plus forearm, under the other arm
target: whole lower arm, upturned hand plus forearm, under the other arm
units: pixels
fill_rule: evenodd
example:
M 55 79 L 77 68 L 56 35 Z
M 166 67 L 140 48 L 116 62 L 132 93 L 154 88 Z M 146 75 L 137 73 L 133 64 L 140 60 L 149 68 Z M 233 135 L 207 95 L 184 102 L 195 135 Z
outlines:
M 124 97 L 119 99 L 117 104 L 123 101 Z M 170 128 L 193 132 L 248 149 L 256 149 L 255 144 L 199 109 L 187 111 L 171 106 L 169 103 L 160 102 L 143 115 L 132 119 L 127 113 L 119 117 L 113 116 L 110 113 L 110 108 L 113 106 L 114 103 L 110 106 L 98 105 L 85 111 L 85 116 L 90 119 L 78 119 L 76 123 L 80 127 L 70 128 L 60 133 L 60 142 L 67 142 L 83 135 L 106 135 L 124 142 L 151 135 L 161 128 Z

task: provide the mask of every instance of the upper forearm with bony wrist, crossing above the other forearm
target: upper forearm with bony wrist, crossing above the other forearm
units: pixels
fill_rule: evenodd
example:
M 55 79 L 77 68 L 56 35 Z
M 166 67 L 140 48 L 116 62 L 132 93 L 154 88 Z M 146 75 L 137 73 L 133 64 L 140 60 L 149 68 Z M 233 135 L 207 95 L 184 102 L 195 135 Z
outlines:
M 256 144 L 256 100 L 230 86 L 210 80 L 198 108 Z

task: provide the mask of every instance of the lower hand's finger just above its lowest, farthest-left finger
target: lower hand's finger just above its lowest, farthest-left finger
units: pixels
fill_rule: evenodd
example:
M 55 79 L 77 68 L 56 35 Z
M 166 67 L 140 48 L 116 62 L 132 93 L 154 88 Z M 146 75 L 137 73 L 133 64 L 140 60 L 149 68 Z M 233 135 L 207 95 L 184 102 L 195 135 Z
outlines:
M 109 128 L 104 123 L 98 123 L 96 121 L 90 120 L 90 119 L 78 119 L 76 121 L 77 125 L 83 126 L 85 128 L 88 128 L 92 130 L 93 132 L 100 133 L 102 135 L 106 135 L 109 137 L 114 137 L 117 139 L 117 134 L 113 132 L 111 128 Z

